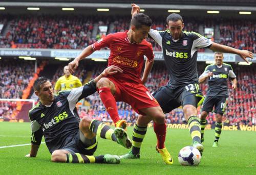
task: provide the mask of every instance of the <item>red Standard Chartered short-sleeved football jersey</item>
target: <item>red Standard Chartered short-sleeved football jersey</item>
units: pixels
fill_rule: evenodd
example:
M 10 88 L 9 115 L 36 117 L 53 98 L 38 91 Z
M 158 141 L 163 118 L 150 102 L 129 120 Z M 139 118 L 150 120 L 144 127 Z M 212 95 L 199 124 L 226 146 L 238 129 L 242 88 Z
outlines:
M 140 76 L 144 63 L 144 55 L 148 61 L 153 61 L 153 47 L 145 39 L 139 44 L 131 43 L 127 37 L 127 32 L 109 34 L 95 42 L 92 47 L 94 50 L 99 50 L 102 47 L 110 48 L 108 66 L 115 65 L 123 70 L 123 73 L 116 73 L 112 77 L 117 80 L 141 83 Z

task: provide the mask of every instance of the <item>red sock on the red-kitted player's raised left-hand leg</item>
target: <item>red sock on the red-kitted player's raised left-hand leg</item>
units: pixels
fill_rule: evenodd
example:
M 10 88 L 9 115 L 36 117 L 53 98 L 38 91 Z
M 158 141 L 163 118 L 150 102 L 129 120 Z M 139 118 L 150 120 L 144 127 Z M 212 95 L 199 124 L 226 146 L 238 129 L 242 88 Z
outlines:
M 106 108 L 106 111 L 110 114 L 111 119 L 114 121 L 114 123 L 116 123 L 118 120 L 120 120 L 120 118 L 117 111 L 116 99 L 111 93 L 110 88 L 107 88 L 107 87 L 100 88 L 99 96 Z

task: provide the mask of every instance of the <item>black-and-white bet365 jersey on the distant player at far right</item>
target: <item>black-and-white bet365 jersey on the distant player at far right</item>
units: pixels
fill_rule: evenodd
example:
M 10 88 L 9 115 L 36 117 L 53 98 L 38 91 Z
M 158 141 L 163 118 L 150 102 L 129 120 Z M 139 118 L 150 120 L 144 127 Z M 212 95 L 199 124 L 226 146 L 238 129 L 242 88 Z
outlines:
M 212 72 L 212 76 L 208 79 L 209 87 L 206 95 L 228 97 L 228 77 L 230 79 L 236 78 L 236 74 L 234 74 L 231 65 L 223 63 L 222 66 L 218 67 L 216 64 L 210 64 L 205 68 L 201 76 L 205 76 L 208 72 Z

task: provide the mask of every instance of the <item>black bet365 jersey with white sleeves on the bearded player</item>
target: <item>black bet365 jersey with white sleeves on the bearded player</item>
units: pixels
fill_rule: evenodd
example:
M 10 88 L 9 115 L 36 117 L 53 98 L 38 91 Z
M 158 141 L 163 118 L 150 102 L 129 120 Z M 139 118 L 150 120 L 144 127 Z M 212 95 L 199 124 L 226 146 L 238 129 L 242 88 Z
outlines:
M 175 89 L 198 82 L 197 49 L 209 48 L 212 41 L 195 32 L 182 32 L 179 40 L 174 40 L 169 30 L 148 33 L 161 47 L 165 65 L 169 72 L 168 84 Z

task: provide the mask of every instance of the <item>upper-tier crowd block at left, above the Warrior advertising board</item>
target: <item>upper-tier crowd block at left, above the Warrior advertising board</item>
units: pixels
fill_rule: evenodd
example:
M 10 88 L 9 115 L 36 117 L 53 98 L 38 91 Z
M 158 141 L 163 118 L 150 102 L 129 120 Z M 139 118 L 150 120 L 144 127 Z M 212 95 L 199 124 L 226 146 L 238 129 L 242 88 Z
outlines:
M 7 48 L 82 49 L 91 38 L 95 16 L 15 16 L 0 41 Z

